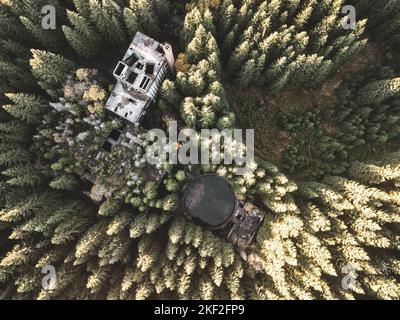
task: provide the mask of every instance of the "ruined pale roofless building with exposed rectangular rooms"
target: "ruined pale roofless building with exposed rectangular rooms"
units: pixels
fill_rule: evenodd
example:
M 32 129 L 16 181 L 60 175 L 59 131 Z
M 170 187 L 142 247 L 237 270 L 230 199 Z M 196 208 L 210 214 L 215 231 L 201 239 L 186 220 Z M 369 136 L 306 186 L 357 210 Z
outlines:
M 117 84 L 106 108 L 120 117 L 139 124 L 146 109 L 154 102 L 168 70 L 173 72 L 171 45 L 137 32 L 113 75 Z

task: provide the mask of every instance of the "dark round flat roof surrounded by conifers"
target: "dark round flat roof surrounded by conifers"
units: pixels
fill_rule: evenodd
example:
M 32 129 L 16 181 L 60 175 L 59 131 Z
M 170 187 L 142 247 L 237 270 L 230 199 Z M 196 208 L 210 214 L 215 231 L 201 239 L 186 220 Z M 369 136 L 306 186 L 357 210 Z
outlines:
M 236 202 L 229 183 L 214 174 L 201 175 L 184 186 L 186 212 L 209 229 L 218 229 L 228 222 Z

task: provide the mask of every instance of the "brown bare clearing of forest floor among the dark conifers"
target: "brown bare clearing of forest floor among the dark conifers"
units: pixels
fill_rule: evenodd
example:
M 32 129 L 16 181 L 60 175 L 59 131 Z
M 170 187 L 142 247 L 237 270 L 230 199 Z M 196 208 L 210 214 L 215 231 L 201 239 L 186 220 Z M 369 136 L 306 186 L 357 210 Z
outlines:
M 260 88 L 239 91 L 228 87 L 228 100 L 236 114 L 238 127 L 255 130 L 256 156 L 281 166 L 283 155 L 291 145 L 292 138 L 287 131 L 280 128 L 276 119 L 278 112 L 323 110 L 334 102 L 335 90 L 348 74 L 357 73 L 379 60 L 378 45 L 368 43 L 355 59 L 343 65 L 320 88 L 290 90 L 278 96 L 269 96 Z M 330 124 L 325 124 L 325 129 L 328 132 L 336 130 Z M 312 137 L 309 139 L 312 140 Z

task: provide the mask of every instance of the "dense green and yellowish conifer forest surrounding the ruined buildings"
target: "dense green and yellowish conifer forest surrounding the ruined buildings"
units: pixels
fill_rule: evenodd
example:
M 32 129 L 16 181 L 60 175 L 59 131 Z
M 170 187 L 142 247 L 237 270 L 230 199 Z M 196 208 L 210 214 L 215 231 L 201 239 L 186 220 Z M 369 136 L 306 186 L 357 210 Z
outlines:
M 255 130 L 196 169 L 265 211 L 245 251 L 173 214 L 192 166 L 80 154 L 137 31 L 176 59 L 145 129 Z M 0 0 L 0 105 L 0 299 L 400 299 L 400 0 Z

